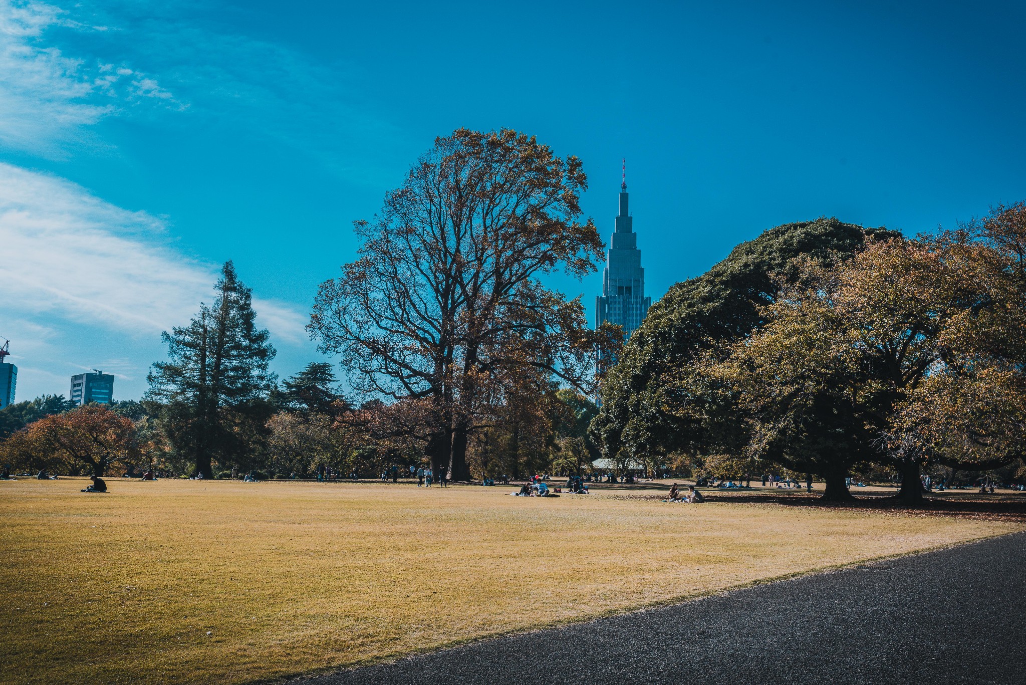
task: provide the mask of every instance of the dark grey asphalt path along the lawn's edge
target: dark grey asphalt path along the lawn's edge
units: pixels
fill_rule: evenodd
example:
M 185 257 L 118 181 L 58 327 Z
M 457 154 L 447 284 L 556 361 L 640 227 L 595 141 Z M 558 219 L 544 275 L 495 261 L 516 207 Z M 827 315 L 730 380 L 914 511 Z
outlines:
M 305 680 L 1026 684 L 1026 533 Z

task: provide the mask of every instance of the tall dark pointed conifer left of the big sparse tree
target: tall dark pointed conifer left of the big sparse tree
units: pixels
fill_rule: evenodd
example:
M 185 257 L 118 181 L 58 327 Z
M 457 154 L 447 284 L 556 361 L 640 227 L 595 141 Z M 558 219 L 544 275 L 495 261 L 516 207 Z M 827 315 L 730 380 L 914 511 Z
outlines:
M 251 291 L 227 262 L 212 306 L 188 327 L 166 331 L 167 361 L 147 377 L 147 397 L 164 404 L 162 422 L 174 450 L 195 464 L 193 473 L 212 478 L 223 466 L 249 461 L 254 434 L 270 416 L 268 393 L 277 381 L 268 371 L 274 347 L 258 330 Z

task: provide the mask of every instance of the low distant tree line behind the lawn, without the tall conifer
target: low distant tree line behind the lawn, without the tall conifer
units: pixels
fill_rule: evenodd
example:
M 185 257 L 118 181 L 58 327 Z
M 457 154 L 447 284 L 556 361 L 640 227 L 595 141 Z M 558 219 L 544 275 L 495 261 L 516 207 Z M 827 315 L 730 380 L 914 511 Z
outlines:
M 427 465 L 422 417 L 402 403 L 367 402 L 352 407 L 334 389 L 331 366 L 312 363 L 274 388 L 261 411 L 266 422 L 229 418 L 238 432 L 215 454 L 198 455 L 183 430 L 182 409 L 154 399 L 108 407 L 75 407 L 62 395 L 46 395 L 0 410 L 0 465 L 13 472 L 45 470 L 69 475 L 142 475 L 312 479 L 334 473 L 378 477 L 383 470 L 408 472 Z M 471 452 L 473 477 L 535 472 L 586 472 L 597 450 L 588 442 L 588 422 L 597 411 L 583 395 L 565 388 L 551 395 L 551 417 L 523 426 L 492 426 Z M 242 428 L 240 428 L 242 426 Z M 248 432 L 245 432 L 248 430 Z M 520 435 L 517 436 L 517 433 Z M 234 451 L 239 445 L 244 449 Z M 209 468 L 204 472 L 203 468 Z

